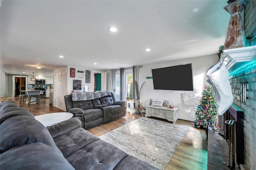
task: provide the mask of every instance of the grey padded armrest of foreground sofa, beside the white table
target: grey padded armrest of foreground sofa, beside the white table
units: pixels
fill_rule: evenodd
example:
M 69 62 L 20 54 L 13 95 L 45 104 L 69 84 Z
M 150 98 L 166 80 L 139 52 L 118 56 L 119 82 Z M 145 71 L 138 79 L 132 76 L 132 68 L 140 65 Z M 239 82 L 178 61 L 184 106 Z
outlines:
M 49 126 L 47 127 L 47 129 L 50 132 L 52 138 L 56 138 L 62 134 L 70 132 L 71 130 L 80 128 L 81 126 L 81 121 L 78 118 L 74 117 L 61 123 Z

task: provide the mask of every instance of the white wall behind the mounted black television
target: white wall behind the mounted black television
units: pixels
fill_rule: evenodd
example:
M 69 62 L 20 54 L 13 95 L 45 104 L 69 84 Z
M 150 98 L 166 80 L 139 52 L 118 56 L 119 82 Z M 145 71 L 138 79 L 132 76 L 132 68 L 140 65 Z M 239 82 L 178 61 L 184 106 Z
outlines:
M 152 77 L 152 69 L 188 63 L 192 63 L 194 91 L 154 90 L 153 79 L 146 79 L 146 77 Z M 201 99 L 204 85 L 208 85 L 206 70 L 216 63 L 218 63 L 218 56 L 210 55 L 143 65 L 140 68 L 140 84 L 144 81 L 146 83 L 142 88 L 140 104 L 145 107 L 150 104 L 150 99 L 169 99 L 174 107 L 179 108 L 178 119 L 194 121 L 192 109 L 197 107 L 196 99 Z M 172 79 L 172 75 L 168 75 L 168 78 Z

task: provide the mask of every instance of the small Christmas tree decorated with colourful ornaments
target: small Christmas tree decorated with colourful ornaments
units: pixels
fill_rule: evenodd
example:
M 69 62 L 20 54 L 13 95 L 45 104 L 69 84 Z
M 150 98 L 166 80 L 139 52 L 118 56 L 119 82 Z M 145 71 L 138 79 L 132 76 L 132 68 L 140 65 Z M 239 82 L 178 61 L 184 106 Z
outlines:
M 202 92 L 202 99 L 195 113 L 195 127 L 207 127 L 207 125 L 213 127 L 216 114 L 216 99 L 213 97 L 212 86 L 209 85 L 204 87 L 204 91 Z

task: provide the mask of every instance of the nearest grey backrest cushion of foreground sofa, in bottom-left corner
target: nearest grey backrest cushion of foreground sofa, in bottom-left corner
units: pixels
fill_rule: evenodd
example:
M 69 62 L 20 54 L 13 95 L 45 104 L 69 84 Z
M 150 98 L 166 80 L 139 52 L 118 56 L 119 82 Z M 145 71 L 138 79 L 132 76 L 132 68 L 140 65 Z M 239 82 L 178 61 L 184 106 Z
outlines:
M 12 148 L 1 154 L 1 170 L 74 170 L 63 155 L 43 143 Z

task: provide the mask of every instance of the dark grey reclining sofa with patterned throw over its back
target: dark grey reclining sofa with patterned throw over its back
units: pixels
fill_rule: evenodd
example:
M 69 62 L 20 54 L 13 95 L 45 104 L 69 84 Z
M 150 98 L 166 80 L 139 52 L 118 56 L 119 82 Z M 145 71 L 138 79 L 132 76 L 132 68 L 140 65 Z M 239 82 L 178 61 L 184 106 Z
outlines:
M 66 111 L 88 129 L 126 115 L 126 101 L 116 101 L 110 91 L 79 92 L 64 96 Z

